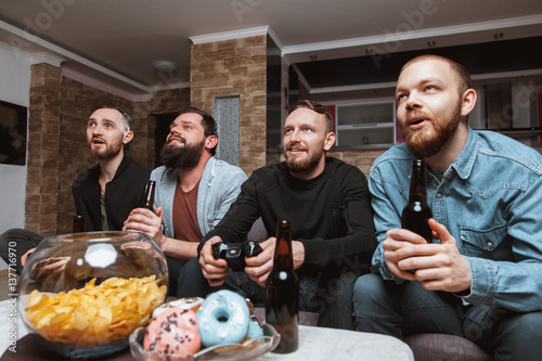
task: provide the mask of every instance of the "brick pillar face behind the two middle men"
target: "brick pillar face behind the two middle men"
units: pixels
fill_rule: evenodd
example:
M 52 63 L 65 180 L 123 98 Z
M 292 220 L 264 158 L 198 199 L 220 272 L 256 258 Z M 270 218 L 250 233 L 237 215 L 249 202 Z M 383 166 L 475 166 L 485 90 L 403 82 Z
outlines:
M 240 166 L 266 165 L 267 36 L 192 46 L 191 104 L 214 113 L 215 96 L 240 95 Z

